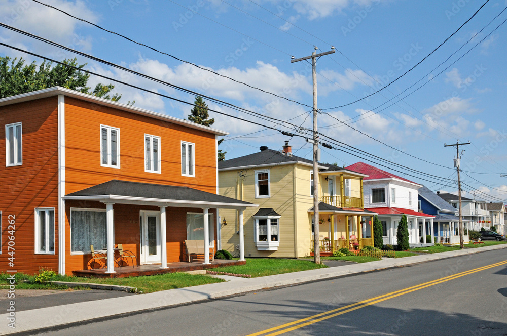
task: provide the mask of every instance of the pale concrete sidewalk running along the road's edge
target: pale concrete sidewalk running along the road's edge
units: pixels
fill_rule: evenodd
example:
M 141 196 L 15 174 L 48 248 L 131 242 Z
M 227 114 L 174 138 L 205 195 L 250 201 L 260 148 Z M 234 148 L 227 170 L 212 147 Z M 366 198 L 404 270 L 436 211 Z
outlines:
M 507 248 L 507 244 L 467 248 L 464 250 L 399 259 L 386 258 L 380 261 L 364 264 L 351 264 L 341 267 L 321 268 L 310 271 L 270 275 L 251 279 L 228 277 L 228 280 L 229 278 L 234 279 L 230 279 L 231 281 L 228 282 L 171 289 L 142 295 L 19 311 L 16 312 L 15 315 L 15 329 L 10 328 L 7 325 L 7 318 L 9 314 L 0 315 L 0 321 L 3 321 L 0 324 L 0 335 L 37 330 L 41 328 L 52 328 L 65 324 L 78 323 L 119 314 L 171 307 L 207 299 L 238 295 L 250 291 L 300 284 L 390 267 L 413 265 L 432 260 L 464 256 L 500 248 Z M 2 309 L 6 311 L 7 308 L 8 307 L 3 307 Z

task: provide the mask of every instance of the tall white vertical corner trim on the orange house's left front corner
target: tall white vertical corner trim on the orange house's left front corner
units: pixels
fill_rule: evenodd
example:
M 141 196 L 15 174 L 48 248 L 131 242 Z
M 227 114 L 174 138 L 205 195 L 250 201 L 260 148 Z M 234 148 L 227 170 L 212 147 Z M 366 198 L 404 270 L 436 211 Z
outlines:
M 65 96 L 58 95 L 58 273 L 65 275 Z M 70 224 L 70 221 L 69 221 Z

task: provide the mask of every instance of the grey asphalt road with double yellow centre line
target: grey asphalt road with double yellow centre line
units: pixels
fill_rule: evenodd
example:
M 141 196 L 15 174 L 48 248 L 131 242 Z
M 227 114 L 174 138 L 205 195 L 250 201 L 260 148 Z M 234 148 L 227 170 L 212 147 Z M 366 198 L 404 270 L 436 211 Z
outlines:
M 507 253 L 248 293 L 45 334 L 507 335 Z

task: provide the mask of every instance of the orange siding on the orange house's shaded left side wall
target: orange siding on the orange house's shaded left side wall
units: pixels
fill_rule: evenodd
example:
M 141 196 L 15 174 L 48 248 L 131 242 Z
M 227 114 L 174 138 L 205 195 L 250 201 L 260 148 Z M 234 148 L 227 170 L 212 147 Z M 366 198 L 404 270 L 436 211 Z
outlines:
M 23 164 L 6 167 L 5 125 L 22 123 Z M 7 269 L 8 215 L 15 215 L 15 269 L 58 272 L 58 98 L 0 107 L 0 211 L 2 255 L 0 271 Z M 35 254 L 34 210 L 55 208 L 55 254 Z

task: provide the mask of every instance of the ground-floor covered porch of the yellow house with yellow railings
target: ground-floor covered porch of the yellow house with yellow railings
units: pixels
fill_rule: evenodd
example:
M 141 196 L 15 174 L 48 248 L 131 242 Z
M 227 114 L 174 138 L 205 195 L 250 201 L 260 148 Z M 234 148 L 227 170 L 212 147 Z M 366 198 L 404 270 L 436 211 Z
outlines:
M 315 250 L 313 207 L 308 212 L 312 217 L 312 251 Z M 332 254 L 340 248 L 360 250 L 373 246 L 373 226 L 366 222 L 367 216 L 376 213 L 365 209 L 338 208 L 325 202 L 319 203 L 319 251 L 322 255 Z

